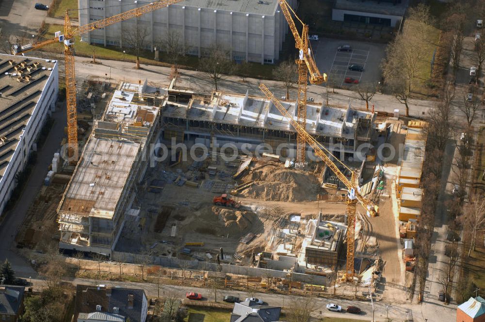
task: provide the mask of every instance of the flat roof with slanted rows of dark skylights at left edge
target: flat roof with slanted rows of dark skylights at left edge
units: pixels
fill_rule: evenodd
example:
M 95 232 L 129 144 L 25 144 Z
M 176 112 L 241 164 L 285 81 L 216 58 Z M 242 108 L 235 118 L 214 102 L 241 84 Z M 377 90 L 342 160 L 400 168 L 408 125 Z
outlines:
M 57 61 L 0 54 L 0 178 L 12 161 L 56 64 Z

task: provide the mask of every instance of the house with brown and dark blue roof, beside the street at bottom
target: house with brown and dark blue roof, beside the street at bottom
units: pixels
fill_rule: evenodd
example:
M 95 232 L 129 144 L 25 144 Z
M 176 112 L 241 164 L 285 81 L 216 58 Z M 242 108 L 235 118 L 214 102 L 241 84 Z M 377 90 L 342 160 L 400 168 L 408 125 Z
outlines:
M 74 307 L 77 322 L 145 322 L 148 301 L 144 290 L 78 285 Z

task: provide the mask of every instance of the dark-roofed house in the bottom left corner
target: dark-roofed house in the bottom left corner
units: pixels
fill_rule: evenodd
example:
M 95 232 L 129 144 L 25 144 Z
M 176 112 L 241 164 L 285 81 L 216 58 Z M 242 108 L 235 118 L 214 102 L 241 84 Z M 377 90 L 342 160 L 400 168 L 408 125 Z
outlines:
M 24 308 L 24 287 L 0 287 L 0 321 L 16 322 Z

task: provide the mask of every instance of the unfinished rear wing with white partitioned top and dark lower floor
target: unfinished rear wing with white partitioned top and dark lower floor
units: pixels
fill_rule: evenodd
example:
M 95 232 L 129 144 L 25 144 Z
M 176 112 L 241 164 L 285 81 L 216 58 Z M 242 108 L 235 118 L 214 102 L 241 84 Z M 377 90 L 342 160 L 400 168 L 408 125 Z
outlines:
M 213 92 L 210 95 L 173 87 L 162 109 L 164 139 L 210 146 L 215 138 L 219 145 L 232 143 L 238 148 L 254 150 L 266 144 L 273 153 L 294 156 L 296 131 L 272 102 L 264 97 Z M 297 118 L 295 101 L 282 101 Z M 307 104 L 307 132 L 337 158 L 362 161 L 366 150 L 357 153 L 360 144 L 371 140 L 375 114 L 347 108 L 328 107 L 323 103 Z

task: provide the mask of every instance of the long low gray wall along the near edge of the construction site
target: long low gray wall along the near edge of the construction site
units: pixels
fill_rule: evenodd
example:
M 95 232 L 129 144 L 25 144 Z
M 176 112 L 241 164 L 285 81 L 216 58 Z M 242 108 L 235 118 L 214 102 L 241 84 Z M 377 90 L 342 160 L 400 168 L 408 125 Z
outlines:
M 252 277 L 279 277 L 288 278 L 288 272 L 259 268 L 259 267 L 246 267 L 231 265 L 226 263 L 221 263 L 220 265 L 216 263 L 209 263 L 205 261 L 198 260 L 184 260 L 178 258 L 171 258 L 165 256 L 149 256 L 143 254 L 132 254 L 125 252 L 113 251 L 111 254 L 111 259 L 114 261 L 121 261 L 125 263 L 149 263 L 153 265 L 159 265 L 163 267 L 172 267 L 185 270 L 195 270 L 195 271 L 212 271 L 212 272 L 222 272 L 226 274 L 244 275 Z M 310 275 L 301 273 L 291 273 L 291 280 L 302 283 L 310 283 L 313 285 L 327 285 L 327 277 L 320 275 Z

